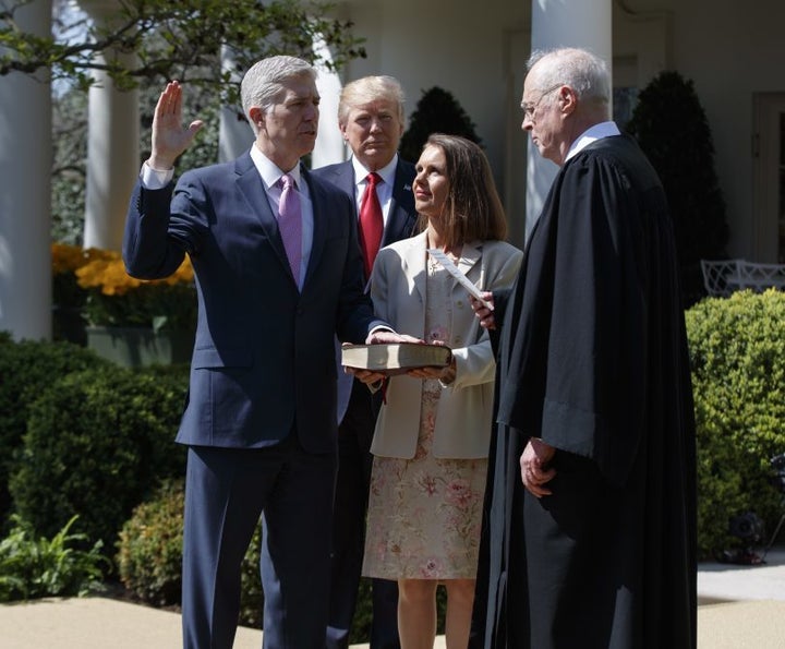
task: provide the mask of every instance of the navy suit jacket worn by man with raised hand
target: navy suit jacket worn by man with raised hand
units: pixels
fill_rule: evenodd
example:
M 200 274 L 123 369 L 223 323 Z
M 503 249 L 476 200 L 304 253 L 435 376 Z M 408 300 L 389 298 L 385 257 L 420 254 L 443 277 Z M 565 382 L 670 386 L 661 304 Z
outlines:
M 306 450 L 334 448 L 335 335 L 362 342 L 382 323 L 363 291 L 353 203 L 304 168 L 302 178 L 314 212 L 302 292 L 250 154 L 188 171 L 174 189 L 134 189 L 123 241 L 129 274 L 166 277 L 188 253 L 196 277 L 198 323 L 178 442 L 262 447 L 295 425 Z

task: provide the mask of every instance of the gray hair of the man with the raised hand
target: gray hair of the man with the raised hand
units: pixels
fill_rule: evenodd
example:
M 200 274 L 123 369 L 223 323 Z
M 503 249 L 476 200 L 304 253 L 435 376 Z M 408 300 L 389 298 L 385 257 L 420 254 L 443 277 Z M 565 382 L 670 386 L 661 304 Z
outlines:
M 240 85 L 243 112 L 256 132 L 256 125 L 249 117 L 249 110 L 258 106 L 267 112 L 278 103 L 283 82 L 290 79 L 307 76 L 316 80 L 316 69 L 303 59 L 297 57 L 277 56 L 262 59 L 254 63 L 243 76 Z

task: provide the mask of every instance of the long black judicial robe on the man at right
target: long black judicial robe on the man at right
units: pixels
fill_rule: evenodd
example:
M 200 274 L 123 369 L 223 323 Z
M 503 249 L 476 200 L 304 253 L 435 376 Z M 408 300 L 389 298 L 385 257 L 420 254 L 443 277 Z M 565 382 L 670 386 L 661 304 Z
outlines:
M 665 194 L 637 143 L 560 169 L 495 296 L 496 426 L 470 647 L 696 646 L 689 359 Z M 530 436 L 553 495 L 522 485 Z

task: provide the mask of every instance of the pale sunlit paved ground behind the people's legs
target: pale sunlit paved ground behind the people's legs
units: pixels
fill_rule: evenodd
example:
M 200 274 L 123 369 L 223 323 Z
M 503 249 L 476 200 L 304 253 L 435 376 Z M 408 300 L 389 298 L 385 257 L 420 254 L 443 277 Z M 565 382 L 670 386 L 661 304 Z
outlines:
M 699 649 L 785 647 L 785 550 L 756 566 L 702 564 Z M 180 615 L 108 598 L 0 605 L 2 649 L 176 649 Z M 262 632 L 240 628 L 234 649 L 259 649 Z M 444 648 L 444 638 L 435 648 Z M 357 648 L 367 647 L 359 645 Z

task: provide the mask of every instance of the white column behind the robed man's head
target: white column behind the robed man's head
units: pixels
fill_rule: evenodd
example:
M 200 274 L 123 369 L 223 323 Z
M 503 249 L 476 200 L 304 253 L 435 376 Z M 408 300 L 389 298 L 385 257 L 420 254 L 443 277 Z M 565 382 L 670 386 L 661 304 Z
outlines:
M 532 0 L 532 51 L 583 47 L 612 64 L 612 0 Z M 521 88 L 522 93 L 523 88 Z M 527 158 L 527 236 L 534 226 L 558 167 L 531 140 Z

